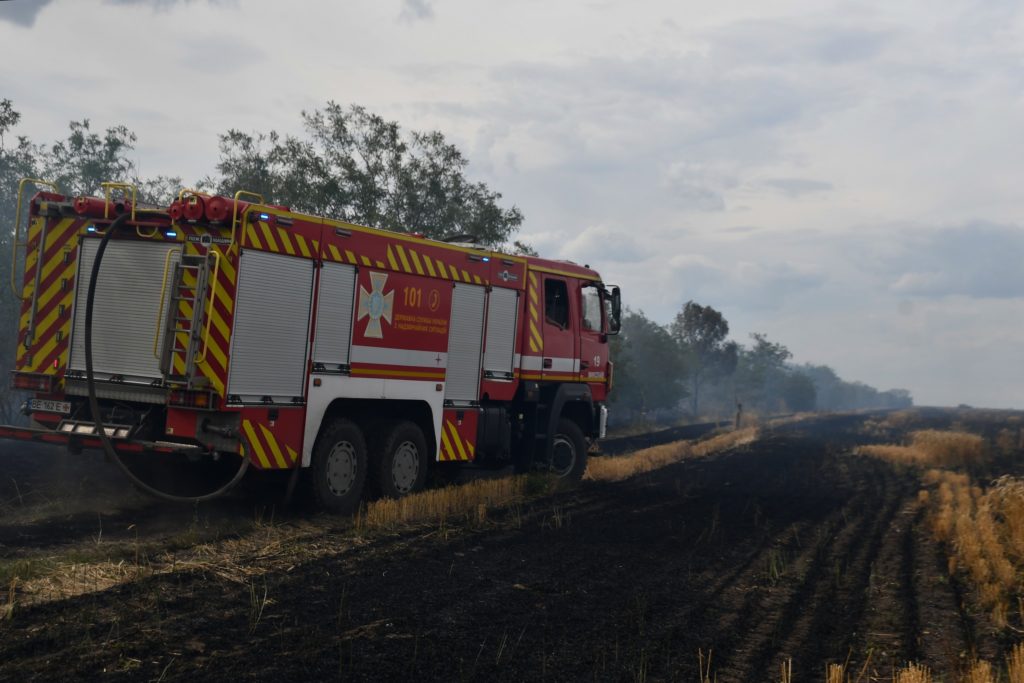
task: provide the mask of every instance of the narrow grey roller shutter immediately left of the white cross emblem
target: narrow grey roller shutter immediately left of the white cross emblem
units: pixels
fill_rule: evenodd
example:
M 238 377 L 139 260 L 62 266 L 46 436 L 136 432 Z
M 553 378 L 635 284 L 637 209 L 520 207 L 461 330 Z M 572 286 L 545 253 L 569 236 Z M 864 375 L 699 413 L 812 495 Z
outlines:
M 316 301 L 313 362 L 323 364 L 328 370 L 339 370 L 348 365 L 354 299 L 355 266 L 325 263 L 321 268 Z

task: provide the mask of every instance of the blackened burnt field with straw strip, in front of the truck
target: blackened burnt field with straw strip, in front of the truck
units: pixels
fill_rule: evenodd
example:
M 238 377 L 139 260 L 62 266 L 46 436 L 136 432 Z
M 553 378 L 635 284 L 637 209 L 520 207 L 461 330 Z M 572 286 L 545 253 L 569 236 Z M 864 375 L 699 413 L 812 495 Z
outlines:
M 765 681 L 792 660 L 889 681 L 914 660 L 957 680 L 1019 617 L 950 572 L 920 469 L 854 453 L 912 426 L 884 419 L 387 528 L 154 503 L 98 457 L 5 443 L 0 678 Z

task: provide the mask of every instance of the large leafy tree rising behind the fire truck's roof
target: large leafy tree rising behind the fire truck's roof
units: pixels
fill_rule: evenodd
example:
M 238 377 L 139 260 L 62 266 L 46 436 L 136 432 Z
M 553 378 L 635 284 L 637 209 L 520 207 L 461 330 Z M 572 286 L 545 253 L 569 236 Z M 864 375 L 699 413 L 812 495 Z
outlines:
M 302 122 L 303 138 L 221 135 L 220 177 L 209 184 L 389 230 L 470 234 L 486 246 L 505 244 L 522 223 L 519 209 L 499 205 L 501 194 L 467 179 L 469 161 L 438 131 L 406 134 L 361 106 L 335 102 L 303 112 Z

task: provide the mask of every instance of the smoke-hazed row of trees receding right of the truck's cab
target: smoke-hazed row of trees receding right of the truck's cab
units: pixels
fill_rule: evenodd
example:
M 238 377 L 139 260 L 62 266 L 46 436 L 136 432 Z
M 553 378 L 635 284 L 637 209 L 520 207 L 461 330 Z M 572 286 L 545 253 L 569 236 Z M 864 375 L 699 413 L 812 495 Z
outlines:
M 711 306 L 687 301 L 669 325 L 628 309 L 613 340 L 615 423 L 730 418 L 737 411 L 895 409 L 912 404 L 904 389 L 880 391 L 847 382 L 828 366 L 792 362 L 784 345 L 753 333 L 730 340 L 729 323 Z

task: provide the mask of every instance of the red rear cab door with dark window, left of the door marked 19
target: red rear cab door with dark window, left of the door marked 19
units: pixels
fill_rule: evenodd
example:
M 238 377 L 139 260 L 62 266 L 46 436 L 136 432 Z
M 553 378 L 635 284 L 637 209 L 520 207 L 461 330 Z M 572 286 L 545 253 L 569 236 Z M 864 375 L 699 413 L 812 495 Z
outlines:
M 550 382 L 578 381 L 580 301 L 575 281 L 542 273 L 544 280 L 544 355 L 541 377 Z

